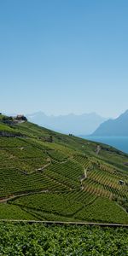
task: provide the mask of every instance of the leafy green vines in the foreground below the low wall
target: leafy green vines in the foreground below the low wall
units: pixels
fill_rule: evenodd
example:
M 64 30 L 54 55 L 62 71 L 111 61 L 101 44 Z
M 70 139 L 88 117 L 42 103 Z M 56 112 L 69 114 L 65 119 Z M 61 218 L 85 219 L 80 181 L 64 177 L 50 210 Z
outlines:
M 127 256 L 128 230 L 77 225 L 1 223 L 0 255 Z

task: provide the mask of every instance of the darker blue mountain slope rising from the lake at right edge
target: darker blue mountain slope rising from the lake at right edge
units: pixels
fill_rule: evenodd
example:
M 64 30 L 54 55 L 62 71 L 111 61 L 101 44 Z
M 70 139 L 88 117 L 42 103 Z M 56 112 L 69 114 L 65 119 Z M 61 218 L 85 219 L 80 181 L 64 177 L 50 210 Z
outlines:
M 128 137 L 128 110 L 117 119 L 109 119 L 100 125 L 92 136 Z

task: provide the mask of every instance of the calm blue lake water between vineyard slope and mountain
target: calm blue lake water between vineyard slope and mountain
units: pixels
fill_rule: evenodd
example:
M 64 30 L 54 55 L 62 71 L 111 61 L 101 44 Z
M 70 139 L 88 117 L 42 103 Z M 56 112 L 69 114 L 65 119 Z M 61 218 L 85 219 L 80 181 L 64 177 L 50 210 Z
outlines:
M 118 148 L 125 153 L 128 153 L 128 137 L 87 137 L 83 136 L 83 138 L 88 139 L 90 141 L 94 141 L 97 143 L 105 143 L 114 148 Z

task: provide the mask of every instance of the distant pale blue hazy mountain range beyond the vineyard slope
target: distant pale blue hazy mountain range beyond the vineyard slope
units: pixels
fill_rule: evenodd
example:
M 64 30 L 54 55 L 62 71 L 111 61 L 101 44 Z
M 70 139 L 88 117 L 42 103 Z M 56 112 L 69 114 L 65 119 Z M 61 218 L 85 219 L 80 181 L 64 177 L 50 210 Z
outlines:
M 89 135 L 96 131 L 97 127 L 102 124 L 106 118 L 97 113 L 83 113 L 67 115 L 46 115 L 43 112 L 26 114 L 27 119 L 37 125 L 44 126 L 54 131 L 74 135 Z

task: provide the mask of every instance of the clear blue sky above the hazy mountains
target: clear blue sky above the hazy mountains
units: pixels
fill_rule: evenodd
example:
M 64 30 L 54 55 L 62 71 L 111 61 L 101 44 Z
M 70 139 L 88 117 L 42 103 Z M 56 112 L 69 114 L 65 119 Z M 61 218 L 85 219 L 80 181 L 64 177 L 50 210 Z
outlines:
M 127 0 L 0 1 L 1 111 L 124 112 L 127 14 Z

